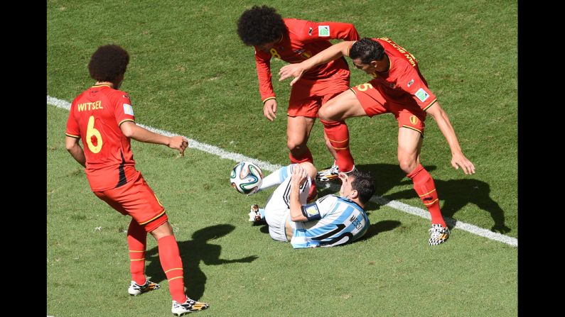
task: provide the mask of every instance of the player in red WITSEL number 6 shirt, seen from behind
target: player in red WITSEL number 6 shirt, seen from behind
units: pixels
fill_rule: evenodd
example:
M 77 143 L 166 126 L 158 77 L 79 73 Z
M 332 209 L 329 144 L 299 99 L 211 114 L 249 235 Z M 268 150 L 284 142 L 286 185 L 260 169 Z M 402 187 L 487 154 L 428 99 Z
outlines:
M 157 240 L 159 260 L 169 283 L 176 315 L 200 311 L 208 304 L 193 301 L 184 292 L 183 262 L 165 209 L 141 172 L 135 169 L 130 138 L 167 145 L 184 154 L 188 140 L 168 137 L 136 126 L 129 96 L 120 91 L 129 54 L 118 45 L 104 45 L 88 64 L 96 84 L 71 104 L 65 144 L 70 155 L 85 167 L 90 188 L 109 206 L 131 216 L 127 231 L 131 284 L 128 293 L 139 295 L 160 286 L 146 279 L 147 233 Z M 78 143 L 82 139 L 84 150 Z

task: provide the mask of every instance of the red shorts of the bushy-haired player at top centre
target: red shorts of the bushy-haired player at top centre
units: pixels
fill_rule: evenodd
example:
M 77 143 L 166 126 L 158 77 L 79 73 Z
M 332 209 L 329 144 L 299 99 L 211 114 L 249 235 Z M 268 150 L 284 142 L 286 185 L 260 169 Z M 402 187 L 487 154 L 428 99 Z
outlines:
M 318 110 L 328 100 L 349 88 L 349 70 L 340 69 L 324 79 L 298 79 L 292 86 L 287 116 L 318 118 Z

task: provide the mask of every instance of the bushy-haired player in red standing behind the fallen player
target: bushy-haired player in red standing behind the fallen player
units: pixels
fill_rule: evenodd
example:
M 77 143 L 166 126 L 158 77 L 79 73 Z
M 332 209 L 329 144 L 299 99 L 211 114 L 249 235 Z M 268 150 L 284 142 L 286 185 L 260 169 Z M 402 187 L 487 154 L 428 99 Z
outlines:
M 269 6 L 253 6 L 244 11 L 237 21 L 237 34 L 245 45 L 255 48 L 255 65 L 259 77 L 259 92 L 263 101 L 264 116 L 276 118 L 276 95 L 271 82 L 271 58 L 289 63 L 299 63 L 311 58 L 331 46 L 330 39 L 357 40 L 359 34 L 350 23 L 312 22 L 296 18 L 282 18 Z M 318 109 L 328 100 L 349 88 L 350 71 L 345 59 L 333 60 L 319 65 L 304 74 L 292 87 L 289 107 L 286 112 L 286 145 L 292 163 L 311 162 L 313 157 L 306 146 Z M 345 126 L 345 122 L 322 121 L 324 130 L 331 126 Z M 347 126 L 345 126 L 347 130 Z M 349 149 L 349 140 L 335 142 L 325 135 L 326 146 L 337 160 L 339 151 Z M 336 150 L 338 153 L 336 154 Z M 349 150 L 347 169 L 354 163 Z M 308 201 L 316 197 L 316 187 L 311 187 Z

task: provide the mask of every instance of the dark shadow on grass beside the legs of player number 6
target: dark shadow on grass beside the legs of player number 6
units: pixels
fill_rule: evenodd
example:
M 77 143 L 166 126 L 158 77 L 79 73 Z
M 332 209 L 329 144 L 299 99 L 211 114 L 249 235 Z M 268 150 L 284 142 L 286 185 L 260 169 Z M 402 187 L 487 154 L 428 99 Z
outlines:
M 186 294 L 191 299 L 198 300 L 204 294 L 206 275 L 200 269 L 200 261 L 205 265 L 224 265 L 228 263 L 250 263 L 257 259 L 256 255 L 242 257 L 235 260 L 220 259 L 222 247 L 208 243 L 209 240 L 220 238 L 235 229 L 232 225 L 216 225 L 202 228 L 193 233 L 193 240 L 178 241 L 178 249 L 181 252 L 184 270 L 184 283 Z M 161 268 L 161 262 L 158 259 L 158 247 L 146 252 L 146 274 L 151 277 L 153 282 L 162 282 L 166 280 L 166 275 Z

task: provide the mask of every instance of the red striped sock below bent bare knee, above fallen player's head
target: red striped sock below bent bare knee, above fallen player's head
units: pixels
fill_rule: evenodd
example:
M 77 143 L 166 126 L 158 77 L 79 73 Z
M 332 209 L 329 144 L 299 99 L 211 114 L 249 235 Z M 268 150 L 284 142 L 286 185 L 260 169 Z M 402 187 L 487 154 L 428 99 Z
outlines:
M 328 135 L 330 144 L 338 155 L 338 167 L 340 172 L 350 172 L 355 167 L 353 156 L 349 150 L 349 129 L 345 121 L 325 121 L 323 124 L 325 135 Z

